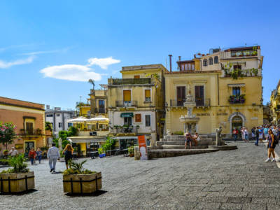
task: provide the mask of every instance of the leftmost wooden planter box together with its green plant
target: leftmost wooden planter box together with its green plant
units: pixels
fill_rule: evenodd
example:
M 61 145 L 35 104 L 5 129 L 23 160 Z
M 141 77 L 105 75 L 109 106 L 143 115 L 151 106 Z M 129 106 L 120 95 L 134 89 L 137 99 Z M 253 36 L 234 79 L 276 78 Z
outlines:
M 20 193 L 35 188 L 34 172 L 29 172 L 24 154 L 6 161 L 12 168 L 0 172 L 1 193 Z

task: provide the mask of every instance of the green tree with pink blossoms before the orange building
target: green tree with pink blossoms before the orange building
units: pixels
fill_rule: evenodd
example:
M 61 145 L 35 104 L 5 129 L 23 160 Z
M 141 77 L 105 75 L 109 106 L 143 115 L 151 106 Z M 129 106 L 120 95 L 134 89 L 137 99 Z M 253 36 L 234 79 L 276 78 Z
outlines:
M 13 143 L 13 138 L 15 137 L 15 125 L 13 123 L 4 123 L 0 122 L 0 143 L 3 146 L 6 146 L 8 150 L 8 144 Z

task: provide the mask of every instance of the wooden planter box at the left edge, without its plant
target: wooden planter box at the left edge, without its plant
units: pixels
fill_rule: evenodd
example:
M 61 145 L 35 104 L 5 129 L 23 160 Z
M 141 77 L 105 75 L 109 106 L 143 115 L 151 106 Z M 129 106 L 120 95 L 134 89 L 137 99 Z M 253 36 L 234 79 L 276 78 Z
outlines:
M 34 172 L 0 174 L 1 193 L 20 193 L 34 188 Z

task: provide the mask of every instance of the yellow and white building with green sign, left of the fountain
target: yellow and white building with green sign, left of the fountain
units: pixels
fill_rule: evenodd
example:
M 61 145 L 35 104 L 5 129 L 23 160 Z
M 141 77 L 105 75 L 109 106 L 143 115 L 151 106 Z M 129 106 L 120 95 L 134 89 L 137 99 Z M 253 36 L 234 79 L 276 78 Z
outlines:
M 111 133 L 120 140 L 121 148 L 139 134 L 145 134 L 152 145 L 162 137 L 167 72 L 162 64 L 125 66 L 120 71 L 122 78 L 108 79 Z

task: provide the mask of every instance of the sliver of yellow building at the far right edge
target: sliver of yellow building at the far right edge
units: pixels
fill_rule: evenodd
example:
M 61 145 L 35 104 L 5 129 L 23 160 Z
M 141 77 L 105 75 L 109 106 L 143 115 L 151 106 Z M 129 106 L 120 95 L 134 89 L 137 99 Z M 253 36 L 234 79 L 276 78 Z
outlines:
M 275 90 L 272 90 L 270 96 L 270 114 L 272 116 L 272 123 L 280 124 L 280 80 Z

